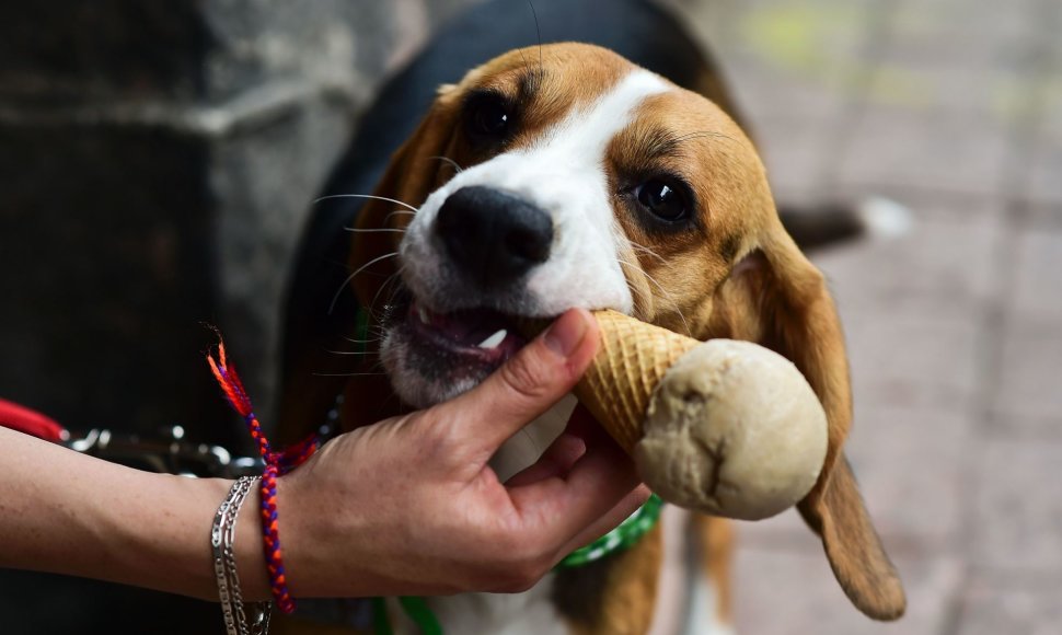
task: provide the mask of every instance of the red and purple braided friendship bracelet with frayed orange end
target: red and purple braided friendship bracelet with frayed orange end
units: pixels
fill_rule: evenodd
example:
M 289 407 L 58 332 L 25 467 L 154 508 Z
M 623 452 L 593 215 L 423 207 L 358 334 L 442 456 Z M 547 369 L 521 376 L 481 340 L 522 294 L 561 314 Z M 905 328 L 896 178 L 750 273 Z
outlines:
M 218 385 L 224 392 L 226 399 L 232 408 L 243 417 L 251 438 L 254 439 L 265 461 L 265 471 L 262 474 L 262 542 L 265 552 L 266 568 L 269 572 L 269 586 L 273 589 L 273 598 L 277 608 L 284 613 L 295 611 L 295 600 L 288 591 L 288 581 L 284 570 L 284 555 L 280 550 L 280 534 L 277 530 L 277 476 L 286 474 L 293 467 L 309 459 L 318 449 L 318 439 L 313 436 L 302 442 L 285 450 L 274 452 L 269 447 L 269 440 L 262 431 L 262 424 L 254 415 L 251 399 L 247 396 L 243 382 L 233 366 L 229 365 L 224 355 L 224 343 L 218 343 L 218 359 L 207 355 L 207 363 Z

